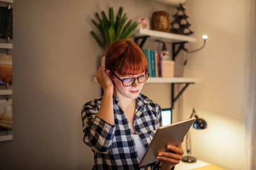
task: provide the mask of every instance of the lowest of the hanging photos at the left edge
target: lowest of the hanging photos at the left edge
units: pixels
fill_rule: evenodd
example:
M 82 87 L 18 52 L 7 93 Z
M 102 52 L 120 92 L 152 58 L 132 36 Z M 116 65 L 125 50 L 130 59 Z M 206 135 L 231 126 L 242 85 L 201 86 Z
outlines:
M 0 100 L 0 131 L 13 129 L 13 100 Z

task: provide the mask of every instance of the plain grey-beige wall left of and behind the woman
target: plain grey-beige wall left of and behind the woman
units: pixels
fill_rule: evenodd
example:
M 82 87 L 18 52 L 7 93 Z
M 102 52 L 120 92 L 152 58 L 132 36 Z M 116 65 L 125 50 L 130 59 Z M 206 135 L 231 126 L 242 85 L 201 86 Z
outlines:
M 104 52 L 90 19 L 109 6 L 132 19 L 170 9 L 147 0 L 14 0 L 13 141 L 0 143 L 1 170 L 91 169 L 80 112 L 101 95 L 92 77 Z

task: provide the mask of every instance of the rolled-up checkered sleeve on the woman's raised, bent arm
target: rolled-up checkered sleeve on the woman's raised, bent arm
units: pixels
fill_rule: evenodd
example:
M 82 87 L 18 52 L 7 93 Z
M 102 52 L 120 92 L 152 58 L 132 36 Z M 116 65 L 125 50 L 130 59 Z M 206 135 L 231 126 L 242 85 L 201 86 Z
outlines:
M 83 140 L 94 151 L 105 153 L 112 146 L 115 126 L 96 116 L 100 103 L 101 99 L 93 100 L 82 107 Z

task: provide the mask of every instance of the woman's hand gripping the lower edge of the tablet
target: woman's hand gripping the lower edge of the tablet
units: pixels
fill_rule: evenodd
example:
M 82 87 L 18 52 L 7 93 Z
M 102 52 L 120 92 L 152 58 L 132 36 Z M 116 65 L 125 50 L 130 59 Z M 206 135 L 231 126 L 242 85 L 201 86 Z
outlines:
M 183 141 L 184 141 L 184 139 L 183 139 Z M 158 153 L 158 155 L 156 156 L 156 159 L 158 159 L 159 162 L 162 162 L 162 169 L 166 169 L 164 167 L 171 167 L 171 166 L 175 167 L 176 164 L 180 163 L 182 155 L 184 154 L 184 151 L 181 147 L 181 143 L 178 147 L 172 146 L 172 145 L 167 146 L 167 149 L 171 150 L 174 153 L 172 153 L 172 152 L 159 152 Z M 170 169 L 170 168 L 167 168 L 167 169 Z

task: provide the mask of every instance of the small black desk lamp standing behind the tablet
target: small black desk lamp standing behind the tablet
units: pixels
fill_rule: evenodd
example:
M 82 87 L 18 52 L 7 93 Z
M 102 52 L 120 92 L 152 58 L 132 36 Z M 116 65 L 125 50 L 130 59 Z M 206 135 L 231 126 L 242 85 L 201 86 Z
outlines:
M 191 117 L 195 117 L 196 121 L 193 124 L 193 128 L 194 129 L 206 129 L 207 128 L 207 122 L 205 120 L 203 120 L 202 118 L 199 118 L 196 115 L 195 109 L 193 108 Z M 190 135 L 190 131 L 188 131 L 188 134 L 186 135 L 186 149 L 187 149 L 187 155 L 183 156 L 181 161 L 185 162 L 185 163 L 195 163 L 196 162 L 196 158 L 191 156 L 191 135 Z

